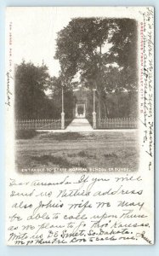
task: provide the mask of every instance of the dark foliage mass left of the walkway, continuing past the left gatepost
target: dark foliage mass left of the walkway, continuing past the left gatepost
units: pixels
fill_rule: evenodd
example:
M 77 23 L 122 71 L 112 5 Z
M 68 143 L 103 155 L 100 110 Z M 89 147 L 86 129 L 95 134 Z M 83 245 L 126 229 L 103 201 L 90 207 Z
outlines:
M 16 119 L 60 119 L 61 77 L 50 77 L 46 65 L 35 66 L 22 61 L 15 68 L 14 107 Z M 52 95 L 47 94 L 51 90 Z M 73 114 L 74 96 L 69 86 L 64 88 L 65 118 Z

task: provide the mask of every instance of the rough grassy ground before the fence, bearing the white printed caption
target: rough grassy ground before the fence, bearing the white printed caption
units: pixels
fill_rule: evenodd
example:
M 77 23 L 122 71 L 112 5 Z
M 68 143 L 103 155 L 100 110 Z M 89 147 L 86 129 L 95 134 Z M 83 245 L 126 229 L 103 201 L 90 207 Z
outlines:
M 16 139 L 18 172 L 138 171 L 137 131 L 46 132 L 34 136 Z

